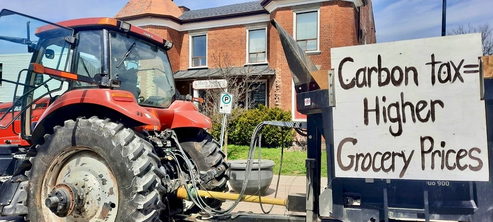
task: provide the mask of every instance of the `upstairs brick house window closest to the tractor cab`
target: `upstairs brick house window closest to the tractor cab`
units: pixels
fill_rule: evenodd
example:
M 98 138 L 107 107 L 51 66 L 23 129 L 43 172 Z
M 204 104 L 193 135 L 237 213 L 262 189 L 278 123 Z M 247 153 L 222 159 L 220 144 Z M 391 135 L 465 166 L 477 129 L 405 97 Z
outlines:
M 190 46 L 190 67 L 207 66 L 207 35 L 191 35 Z

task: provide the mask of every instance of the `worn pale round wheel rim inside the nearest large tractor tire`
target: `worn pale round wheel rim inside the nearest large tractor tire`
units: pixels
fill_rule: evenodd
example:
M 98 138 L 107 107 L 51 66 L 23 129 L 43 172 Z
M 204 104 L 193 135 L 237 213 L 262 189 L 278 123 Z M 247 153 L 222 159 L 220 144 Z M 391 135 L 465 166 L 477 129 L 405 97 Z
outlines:
M 98 153 L 74 147 L 57 156 L 43 179 L 46 221 L 114 221 L 118 209 L 115 176 Z

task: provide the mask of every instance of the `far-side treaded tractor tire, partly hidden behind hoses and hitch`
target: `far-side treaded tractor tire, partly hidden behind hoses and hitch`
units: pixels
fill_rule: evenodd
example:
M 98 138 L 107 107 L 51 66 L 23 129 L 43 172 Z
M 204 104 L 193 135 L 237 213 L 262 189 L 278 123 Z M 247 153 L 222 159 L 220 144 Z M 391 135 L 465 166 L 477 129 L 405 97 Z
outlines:
M 203 185 L 202 188 L 219 192 L 228 191 L 228 176 L 226 174 L 228 165 L 224 160 L 226 155 L 220 149 L 219 143 L 203 129 L 177 129 L 175 131 L 180 146 L 192 158 L 199 171 L 216 169 L 219 172 L 213 180 Z M 220 208 L 222 202 L 217 199 L 206 201 L 213 209 Z M 197 213 L 198 211 L 198 208 L 194 207 L 186 213 Z

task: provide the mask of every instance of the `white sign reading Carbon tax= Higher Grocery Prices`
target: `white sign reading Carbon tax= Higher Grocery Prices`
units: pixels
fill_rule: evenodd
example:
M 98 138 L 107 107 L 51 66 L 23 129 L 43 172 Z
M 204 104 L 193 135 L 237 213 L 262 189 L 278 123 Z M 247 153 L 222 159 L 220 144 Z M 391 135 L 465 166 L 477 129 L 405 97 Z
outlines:
M 335 176 L 488 181 L 481 35 L 332 48 Z

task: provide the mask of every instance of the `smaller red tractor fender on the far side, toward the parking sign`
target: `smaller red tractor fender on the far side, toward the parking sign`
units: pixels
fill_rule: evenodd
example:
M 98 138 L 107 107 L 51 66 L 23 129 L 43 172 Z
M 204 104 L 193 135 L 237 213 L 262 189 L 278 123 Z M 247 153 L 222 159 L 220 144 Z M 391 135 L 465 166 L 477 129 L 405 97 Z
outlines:
M 173 123 L 171 124 L 172 129 L 181 127 L 212 128 L 211 118 L 200 113 L 192 102 L 175 101 L 169 109 L 175 111 Z

